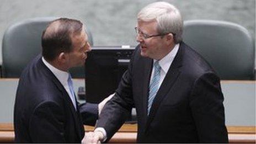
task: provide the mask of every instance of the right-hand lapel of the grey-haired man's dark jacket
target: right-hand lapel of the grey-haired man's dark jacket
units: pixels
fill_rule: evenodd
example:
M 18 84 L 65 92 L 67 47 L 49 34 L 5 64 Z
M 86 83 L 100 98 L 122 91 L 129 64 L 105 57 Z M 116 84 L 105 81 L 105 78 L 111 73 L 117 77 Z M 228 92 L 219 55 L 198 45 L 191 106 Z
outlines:
M 177 55 L 175 56 L 175 58 L 172 62 L 172 65 L 170 65 L 170 68 L 166 74 L 166 77 L 164 77 L 163 82 L 162 82 L 161 86 L 159 87 L 159 90 L 156 94 L 156 97 L 153 100 L 150 114 L 148 115 L 148 119 L 146 122 L 146 130 L 145 131 L 147 131 L 148 126 L 150 125 L 151 121 L 153 120 L 154 116 L 156 115 L 156 112 L 157 112 L 162 100 L 164 99 L 164 97 L 167 96 L 167 93 L 173 87 L 176 79 L 179 77 L 179 74 L 180 74 L 179 68 L 182 66 L 182 55 L 183 55 L 183 48 L 180 45 L 179 51 L 178 51 Z M 147 98 L 148 98 L 148 93 L 147 93 Z

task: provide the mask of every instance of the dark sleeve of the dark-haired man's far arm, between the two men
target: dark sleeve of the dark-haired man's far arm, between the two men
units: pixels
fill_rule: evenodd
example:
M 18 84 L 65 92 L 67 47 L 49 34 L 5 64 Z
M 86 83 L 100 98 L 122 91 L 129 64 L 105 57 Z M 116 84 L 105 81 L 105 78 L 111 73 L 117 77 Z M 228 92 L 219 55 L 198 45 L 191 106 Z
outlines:
M 79 105 L 79 110 L 82 116 L 83 124 L 94 126 L 99 114 L 98 104 L 88 102 L 83 103 Z

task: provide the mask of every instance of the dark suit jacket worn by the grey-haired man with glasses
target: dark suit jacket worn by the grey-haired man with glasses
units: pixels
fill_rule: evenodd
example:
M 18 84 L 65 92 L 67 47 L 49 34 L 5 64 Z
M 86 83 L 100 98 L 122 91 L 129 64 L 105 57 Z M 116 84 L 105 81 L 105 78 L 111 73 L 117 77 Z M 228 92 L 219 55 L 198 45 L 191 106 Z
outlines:
M 137 46 L 115 96 L 97 122 L 97 127 L 106 130 L 108 140 L 135 106 L 137 142 L 228 142 L 220 79 L 209 64 L 181 42 L 147 116 L 152 63 L 140 55 Z

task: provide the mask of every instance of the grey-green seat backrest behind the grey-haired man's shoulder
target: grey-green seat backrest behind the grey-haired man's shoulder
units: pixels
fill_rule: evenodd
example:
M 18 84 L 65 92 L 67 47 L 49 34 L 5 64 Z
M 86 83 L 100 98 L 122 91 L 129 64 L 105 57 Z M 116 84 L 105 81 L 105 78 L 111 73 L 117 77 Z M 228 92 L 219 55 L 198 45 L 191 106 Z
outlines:
M 188 20 L 184 22 L 183 41 L 198 51 L 221 79 L 254 79 L 255 47 L 241 25 Z

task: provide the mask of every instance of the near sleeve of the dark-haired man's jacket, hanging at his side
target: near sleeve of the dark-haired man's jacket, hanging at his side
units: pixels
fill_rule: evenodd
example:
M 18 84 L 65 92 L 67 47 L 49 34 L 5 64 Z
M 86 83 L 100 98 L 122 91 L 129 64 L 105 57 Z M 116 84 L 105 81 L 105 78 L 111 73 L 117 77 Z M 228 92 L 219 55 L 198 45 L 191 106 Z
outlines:
M 35 108 L 29 120 L 33 143 L 65 143 L 65 115 L 55 102 L 44 102 Z

